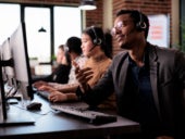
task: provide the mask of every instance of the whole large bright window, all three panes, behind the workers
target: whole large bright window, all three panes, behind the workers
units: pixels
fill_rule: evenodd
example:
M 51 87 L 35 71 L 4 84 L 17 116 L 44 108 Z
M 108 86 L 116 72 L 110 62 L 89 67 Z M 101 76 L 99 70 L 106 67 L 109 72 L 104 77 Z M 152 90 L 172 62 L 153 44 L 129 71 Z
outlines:
M 22 8 L 24 9 L 21 13 Z M 82 13 L 75 7 L 40 8 L 40 5 L 0 3 L 0 13 L 3 13 L 0 14 L 0 45 L 12 35 L 22 17 L 26 23 L 28 55 L 38 58 L 42 63 L 49 63 L 51 54 L 55 54 L 58 47 L 65 43 L 69 37 L 81 37 Z M 38 31 L 41 27 L 46 33 Z

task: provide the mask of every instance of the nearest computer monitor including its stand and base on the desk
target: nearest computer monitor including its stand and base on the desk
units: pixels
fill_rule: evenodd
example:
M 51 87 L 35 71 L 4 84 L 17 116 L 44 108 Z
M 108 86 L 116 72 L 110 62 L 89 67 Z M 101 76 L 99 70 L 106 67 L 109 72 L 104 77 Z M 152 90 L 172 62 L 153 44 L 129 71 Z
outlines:
M 13 60 L 14 77 L 18 93 L 22 94 L 22 101 L 34 99 L 32 88 L 30 68 L 27 53 L 27 40 L 25 24 L 22 22 L 15 31 L 10 36 L 10 51 Z M 7 110 L 7 98 L 4 96 L 4 85 L 2 79 L 2 67 L 8 66 L 9 61 L 0 61 L 0 125 L 7 124 L 30 124 L 33 118 L 25 116 L 9 115 Z M 11 65 L 9 65 L 11 66 Z M 20 115 L 20 114 L 17 114 Z M 20 118 L 21 117 L 21 118 Z

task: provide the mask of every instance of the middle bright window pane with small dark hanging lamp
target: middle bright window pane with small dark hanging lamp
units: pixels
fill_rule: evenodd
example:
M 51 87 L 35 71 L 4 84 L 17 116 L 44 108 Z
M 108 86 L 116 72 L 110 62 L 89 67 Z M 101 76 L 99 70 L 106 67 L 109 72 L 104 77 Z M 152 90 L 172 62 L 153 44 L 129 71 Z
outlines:
M 25 8 L 25 23 L 29 58 L 38 58 L 39 62 L 49 63 L 51 53 L 50 9 Z M 40 28 L 46 31 L 39 31 Z

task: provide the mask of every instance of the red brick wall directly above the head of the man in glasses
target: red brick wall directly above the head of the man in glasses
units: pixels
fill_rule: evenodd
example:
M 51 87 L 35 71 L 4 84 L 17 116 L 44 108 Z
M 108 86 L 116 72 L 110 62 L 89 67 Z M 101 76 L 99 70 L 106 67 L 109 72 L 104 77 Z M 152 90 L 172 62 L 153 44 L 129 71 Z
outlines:
M 112 7 L 113 7 L 113 18 L 115 17 L 116 12 L 120 9 L 136 9 L 145 13 L 146 15 L 151 14 L 170 14 L 170 22 L 172 21 L 171 15 L 171 0 L 112 0 Z M 171 23 L 170 23 L 171 25 Z M 171 27 L 170 27 L 171 28 Z M 171 35 L 170 29 L 170 36 Z M 170 37 L 172 38 L 172 37 Z M 171 43 L 171 40 L 170 40 Z M 120 51 L 120 48 L 118 45 L 113 43 L 114 48 L 113 51 L 116 53 Z

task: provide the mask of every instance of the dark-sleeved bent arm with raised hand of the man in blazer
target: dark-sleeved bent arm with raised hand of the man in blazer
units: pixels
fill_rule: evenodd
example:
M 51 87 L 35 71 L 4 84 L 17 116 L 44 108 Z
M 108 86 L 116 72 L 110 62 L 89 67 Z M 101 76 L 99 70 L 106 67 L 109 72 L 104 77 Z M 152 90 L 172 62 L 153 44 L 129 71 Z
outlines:
M 77 72 L 76 78 L 78 79 L 79 77 L 82 77 L 82 73 L 79 76 Z M 79 100 L 85 101 L 91 106 L 100 104 L 114 90 L 111 68 L 104 74 L 104 76 L 99 80 L 99 83 L 94 88 L 90 88 L 88 84 L 79 78 L 78 81 L 81 83 L 81 86 L 76 90 L 76 96 L 78 97 Z

